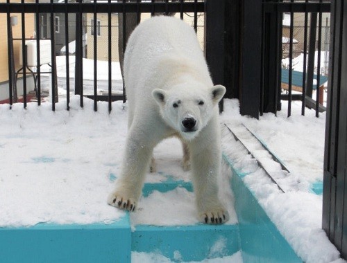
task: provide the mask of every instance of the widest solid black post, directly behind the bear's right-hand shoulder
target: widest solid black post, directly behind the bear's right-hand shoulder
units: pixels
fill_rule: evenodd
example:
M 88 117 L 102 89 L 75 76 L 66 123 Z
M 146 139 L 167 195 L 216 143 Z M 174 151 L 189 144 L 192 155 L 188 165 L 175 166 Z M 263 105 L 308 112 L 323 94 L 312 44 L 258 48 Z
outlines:
M 205 55 L 212 80 L 238 98 L 242 115 L 259 117 L 262 0 L 206 0 Z

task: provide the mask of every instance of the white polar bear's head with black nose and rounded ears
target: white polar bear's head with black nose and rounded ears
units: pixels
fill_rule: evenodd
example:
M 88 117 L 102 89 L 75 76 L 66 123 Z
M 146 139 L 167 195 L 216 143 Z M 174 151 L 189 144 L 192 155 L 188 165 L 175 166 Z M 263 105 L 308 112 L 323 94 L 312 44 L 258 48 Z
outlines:
M 186 140 L 195 138 L 215 114 L 226 88 L 216 85 L 208 89 L 185 85 L 164 91 L 154 89 L 152 96 L 160 107 L 165 122 Z

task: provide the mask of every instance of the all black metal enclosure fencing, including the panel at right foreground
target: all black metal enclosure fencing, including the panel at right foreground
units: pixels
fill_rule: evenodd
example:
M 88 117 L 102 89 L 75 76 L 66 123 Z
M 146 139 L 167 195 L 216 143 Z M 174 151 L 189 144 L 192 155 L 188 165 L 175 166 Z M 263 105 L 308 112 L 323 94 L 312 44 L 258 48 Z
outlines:
M 332 24 L 333 30 L 330 33 L 334 39 L 333 46 L 330 47 L 331 73 L 329 75 L 328 94 L 328 118 L 326 128 L 326 147 L 324 165 L 324 194 L 323 194 L 323 228 L 328 233 L 332 242 L 342 251 L 346 257 L 346 0 L 332 1 Z M 60 13 L 65 16 L 65 60 L 67 65 L 66 96 L 67 109 L 69 109 L 69 15 L 76 17 L 76 69 L 75 69 L 75 93 L 80 96 L 81 107 L 83 107 L 83 15 L 90 13 L 93 15 L 93 28 L 97 30 L 98 23 L 96 15 L 100 13 L 108 16 L 108 109 L 112 109 L 112 100 L 119 99 L 112 96 L 112 27 L 111 15 L 117 12 L 124 17 L 121 24 L 121 39 L 124 50 L 127 37 L 127 19 L 130 14 L 135 14 L 136 24 L 140 21 L 140 14 L 158 13 L 166 14 L 177 12 L 183 19 L 186 13 L 192 13 L 194 17 L 194 28 L 197 29 L 198 13 L 205 14 L 205 55 L 210 66 L 212 79 L 214 82 L 224 84 L 227 87 L 226 98 L 238 98 L 240 111 L 243 115 L 259 118 L 265 112 L 276 114 L 282 108 L 281 99 L 289 101 L 287 115 L 291 116 L 291 101 L 299 99 L 302 103 L 301 114 L 305 114 L 306 107 L 316 110 L 316 116 L 324 108 L 319 105 L 319 92 L 323 72 L 321 70 L 321 51 L 328 51 L 325 48 L 325 41 L 329 37 L 323 37 L 323 16 L 330 12 L 330 1 L 323 0 L 193 0 L 193 1 L 97 1 L 84 2 L 76 0 L 71 2 L 65 0 L 56 2 L 50 0 L 49 3 L 42 3 L 39 0 L 0 3 L 0 15 L 6 15 L 8 33 L 8 94 L 10 105 L 17 100 L 14 89 L 16 85 L 15 60 L 13 57 L 12 14 L 19 14 L 19 21 L 22 27 L 22 58 L 23 58 L 23 89 L 24 108 L 26 108 L 28 98 L 26 97 L 26 14 L 35 15 L 36 32 L 36 53 L 37 65 L 40 65 L 40 15 L 49 14 L 49 39 L 51 40 L 51 66 L 52 72 L 56 71 L 54 63 L 56 57 L 56 42 L 54 14 Z M 303 15 L 304 42 L 303 42 L 303 68 L 301 94 L 294 94 L 293 88 L 293 62 L 294 62 L 294 17 L 300 13 Z M 283 24 L 283 17 L 289 16 L 289 24 Z M 284 26 L 287 28 L 287 40 L 284 39 Z M 328 26 L 327 26 L 328 28 Z M 96 32 L 96 31 L 95 31 Z M 96 75 L 97 64 L 97 34 L 93 37 L 94 48 L 94 110 L 97 110 L 98 79 Z M 283 51 L 286 51 L 284 53 Z M 318 51 L 317 59 L 314 53 Z M 287 96 L 281 96 L 282 90 L 282 58 L 288 56 L 288 83 Z M 316 77 L 314 68 L 317 68 Z M 41 78 L 40 66 L 37 66 L 37 105 L 41 103 Z M 325 73 L 324 73 L 325 74 Z M 314 83 L 316 78 L 316 83 Z M 51 105 L 55 109 L 58 99 L 56 75 L 52 74 L 51 79 Z M 312 100 L 312 91 L 317 90 L 316 99 Z M 125 93 L 121 96 L 125 100 Z

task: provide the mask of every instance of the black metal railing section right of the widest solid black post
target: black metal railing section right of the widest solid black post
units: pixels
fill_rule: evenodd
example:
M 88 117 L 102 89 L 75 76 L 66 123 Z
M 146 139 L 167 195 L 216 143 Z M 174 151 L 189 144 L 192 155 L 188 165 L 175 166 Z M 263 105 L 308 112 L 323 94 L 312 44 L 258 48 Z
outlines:
M 329 32 L 324 35 L 322 28 L 327 26 L 330 15 L 330 1 L 264 1 L 263 3 L 263 33 L 262 33 L 262 82 L 260 97 L 260 114 L 266 111 L 281 109 L 281 100 L 288 100 L 287 115 L 291 116 L 292 100 L 301 100 L 301 114 L 305 115 L 305 108 L 313 108 L 316 116 L 325 111 L 323 107 L 323 76 L 321 69 L 323 63 L 322 48 L 325 53 L 329 51 Z M 287 16 L 287 24 L 284 24 L 284 16 Z M 296 18 L 301 19 L 301 45 L 294 35 L 294 23 Z M 288 21 L 289 20 L 289 21 Z M 289 22 L 289 23 L 288 23 Z M 285 36 L 287 30 L 287 36 Z M 297 33 L 298 34 L 298 33 Z M 322 44 L 324 46 L 322 46 Z M 297 46 L 297 47 L 295 47 Z M 295 51 L 298 49 L 298 51 Z M 287 52 L 287 54 L 285 54 Z M 301 57 L 298 57 L 298 55 Z M 282 60 L 287 55 L 287 68 Z M 294 65 L 298 57 L 302 66 Z M 300 60 L 302 58 L 302 60 Z M 325 56 L 328 60 L 328 56 Z M 328 64 L 328 61 L 326 62 Z M 294 71 L 294 66 L 296 70 Z M 324 73 L 328 70 L 325 69 Z M 287 83 L 283 83 L 286 75 Z M 294 91 L 294 73 L 300 78 L 301 84 Z M 281 94 L 285 87 L 287 94 Z M 316 90 L 316 96 L 312 99 L 312 91 Z

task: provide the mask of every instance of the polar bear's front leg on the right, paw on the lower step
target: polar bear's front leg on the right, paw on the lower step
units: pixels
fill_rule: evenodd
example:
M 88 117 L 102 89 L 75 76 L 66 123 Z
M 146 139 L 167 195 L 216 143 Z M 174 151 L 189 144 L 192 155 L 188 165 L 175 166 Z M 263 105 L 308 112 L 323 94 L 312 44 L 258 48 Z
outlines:
M 221 172 L 221 149 L 219 137 L 213 132 L 209 134 L 207 130 L 202 131 L 191 143 L 194 191 L 200 221 L 222 224 L 228 221 L 229 215 L 218 197 L 217 179 Z M 208 140 L 205 136 L 208 136 Z

